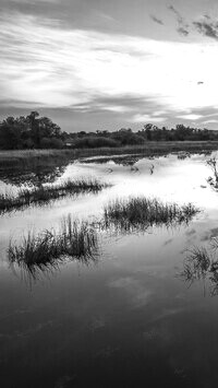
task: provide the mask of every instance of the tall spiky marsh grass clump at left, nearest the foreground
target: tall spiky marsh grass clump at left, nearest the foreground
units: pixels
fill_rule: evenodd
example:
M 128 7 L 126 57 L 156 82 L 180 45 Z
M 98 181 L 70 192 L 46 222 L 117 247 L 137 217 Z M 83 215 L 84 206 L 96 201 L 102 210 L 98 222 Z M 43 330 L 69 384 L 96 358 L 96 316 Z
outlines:
M 98 256 L 98 237 L 95 228 L 85 221 L 63 219 L 59 232 L 45 231 L 38 235 L 28 232 L 20 245 L 10 242 L 8 258 L 11 266 L 19 266 L 37 279 L 59 268 L 68 259 L 84 264 L 95 261 Z

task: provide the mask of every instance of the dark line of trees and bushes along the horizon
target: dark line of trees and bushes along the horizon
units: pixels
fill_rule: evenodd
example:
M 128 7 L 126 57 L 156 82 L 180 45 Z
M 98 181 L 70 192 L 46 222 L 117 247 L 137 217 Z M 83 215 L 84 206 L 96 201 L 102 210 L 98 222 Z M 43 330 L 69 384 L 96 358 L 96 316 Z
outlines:
M 122 128 L 117 131 L 96 130 L 95 132 L 61 131 L 61 128 L 47 117 L 32 111 L 24 117 L 8 117 L 0 122 L 0 150 L 25 149 L 98 149 L 140 145 L 149 141 L 218 141 L 218 131 L 185 127 L 158 128 L 146 124 L 137 132 Z

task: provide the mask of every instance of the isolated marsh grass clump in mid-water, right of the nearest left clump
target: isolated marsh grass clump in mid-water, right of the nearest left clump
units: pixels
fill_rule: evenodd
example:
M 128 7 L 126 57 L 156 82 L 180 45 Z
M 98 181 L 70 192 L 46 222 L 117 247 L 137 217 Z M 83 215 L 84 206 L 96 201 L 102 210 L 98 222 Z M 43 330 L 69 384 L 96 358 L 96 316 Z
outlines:
M 186 224 L 197 212 L 191 203 L 179 207 L 144 197 L 117 199 L 105 207 L 104 224 L 125 232 L 145 231 L 149 226 Z

